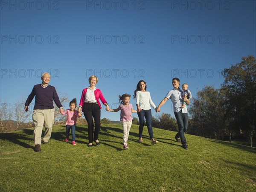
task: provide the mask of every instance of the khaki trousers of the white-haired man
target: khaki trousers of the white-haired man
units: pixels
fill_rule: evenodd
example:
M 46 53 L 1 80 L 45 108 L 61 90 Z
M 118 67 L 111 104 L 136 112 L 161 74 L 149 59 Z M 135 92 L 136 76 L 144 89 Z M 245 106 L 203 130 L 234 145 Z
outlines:
M 52 135 L 52 125 L 54 123 L 54 109 L 33 110 L 33 122 L 35 123 L 35 145 L 41 145 L 43 127 L 45 127 L 43 140 L 47 142 Z

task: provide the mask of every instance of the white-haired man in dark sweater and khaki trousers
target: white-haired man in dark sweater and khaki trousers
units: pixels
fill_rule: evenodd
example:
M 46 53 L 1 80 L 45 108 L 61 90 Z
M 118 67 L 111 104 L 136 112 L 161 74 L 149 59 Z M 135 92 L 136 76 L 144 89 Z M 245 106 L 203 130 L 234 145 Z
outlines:
M 35 151 L 41 151 L 41 136 L 43 131 L 43 126 L 45 126 L 45 133 L 43 137 L 43 144 L 49 143 L 49 138 L 52 134 L 52 125 L 54 123 L 54 106 L 55 104 L 60 108 L 60 112 L 63 112 L 63 107 L 58 98 L 58 94 L 55 90 L 55 87 L 49 85 L 50 74 L 43 73 L 41 76 L 42 83 L 36 84 L 28 99 L 25 102 L 25 111 L 29 111 L 29 104 L 32 102 L 35 96 L 35 107 L 33 110 L 33 122 L 35 123 L 34 129 L 34 142 L 35 142 Z

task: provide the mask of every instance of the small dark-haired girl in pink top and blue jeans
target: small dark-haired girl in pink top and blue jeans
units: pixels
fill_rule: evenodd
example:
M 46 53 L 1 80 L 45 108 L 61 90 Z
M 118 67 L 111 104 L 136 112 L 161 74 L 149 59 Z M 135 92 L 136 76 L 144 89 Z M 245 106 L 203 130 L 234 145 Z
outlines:
M 62 115 L 67 114 L 67 121 L 66 121 L 66 138 L 65 142 L 68 142 L 69 139 L 69 133 L 71 128 L 71 134 L 72 134 L 72 145 L 76 145 L 76 118 L 81 117 L 82 113 L 79 113 L 75 110 L 76 108 L 76 98 L 72 99 L 70 102 L 70 109 L 67 109 L 66 111 L 62 112 Z

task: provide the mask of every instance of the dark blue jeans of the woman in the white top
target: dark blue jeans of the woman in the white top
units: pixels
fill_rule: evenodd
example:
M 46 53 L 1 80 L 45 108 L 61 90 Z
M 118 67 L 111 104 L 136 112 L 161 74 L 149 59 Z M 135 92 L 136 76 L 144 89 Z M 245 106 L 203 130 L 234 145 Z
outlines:
M 152 125 L 151 125 L 151 122 L 152 122 L 152 114 L 151 114 L 151 109 L 148 109 L 148 110 L 141 110 L 138 114 L 138 117 L 139 117 L 139 121 L 140 121 L 140 126 L 139 126 L 139 137 L 142 137 L 142 132 L 143 132 L 143 127 L 144 127 L 144 123 L 145 123 L 145 120 L 144 120 L 144 117 L 146 119 L 146 125 L 148 127 L 148 134 L 149 134 L 149 137 L 150 139 L 153 139 L 154 136 L 153 136 L 153 130 L 152 130 Z

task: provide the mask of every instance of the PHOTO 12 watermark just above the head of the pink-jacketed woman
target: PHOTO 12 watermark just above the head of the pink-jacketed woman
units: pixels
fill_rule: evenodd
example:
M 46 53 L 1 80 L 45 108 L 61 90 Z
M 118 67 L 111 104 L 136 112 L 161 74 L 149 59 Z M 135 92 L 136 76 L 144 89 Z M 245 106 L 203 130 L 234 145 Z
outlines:
M 86 70 L 86 78 L 89 78 L 92 75 L 95 75 L 99 78 L 145 78 L 144 77 L 145 71 L 143 69 L 134 69 L 134 70 L 127 70 L 127 69 L 87 69 Z

